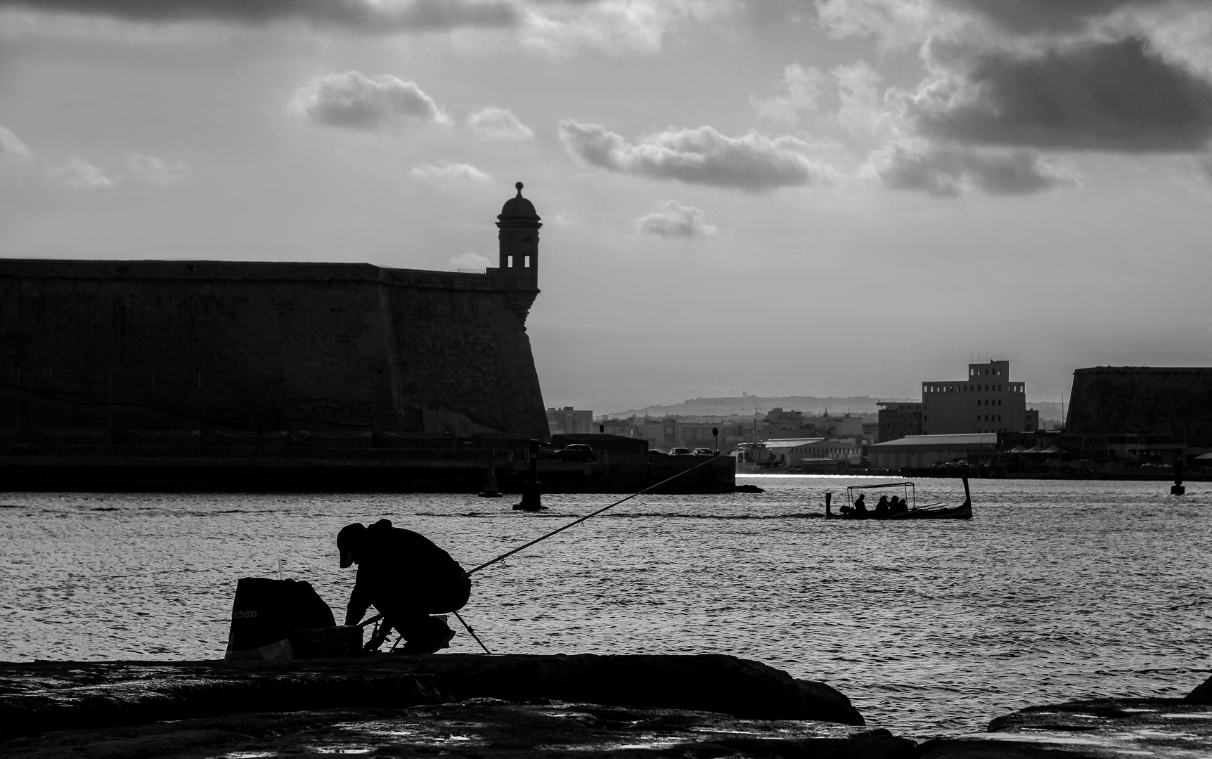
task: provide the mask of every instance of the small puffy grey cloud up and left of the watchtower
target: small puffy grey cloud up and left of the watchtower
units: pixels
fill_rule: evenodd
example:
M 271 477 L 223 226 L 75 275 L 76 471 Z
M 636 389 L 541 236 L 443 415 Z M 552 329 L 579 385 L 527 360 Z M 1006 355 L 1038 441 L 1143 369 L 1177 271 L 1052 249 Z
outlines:
M 316 124 L 362 130 L 401 121 L 450 121 L 421 87 L 390 74 L 370 78 L 345 72 L 318 76 L 298 89 L 291 108 Z

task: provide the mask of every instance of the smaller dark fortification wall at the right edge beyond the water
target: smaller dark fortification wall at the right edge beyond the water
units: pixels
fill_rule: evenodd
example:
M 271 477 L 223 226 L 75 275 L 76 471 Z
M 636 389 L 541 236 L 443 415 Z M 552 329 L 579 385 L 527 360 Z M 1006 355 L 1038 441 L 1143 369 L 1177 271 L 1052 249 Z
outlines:
M 1073 375 L 1065 430 L 1212 445 L 1212 367 L 1096 366 Z

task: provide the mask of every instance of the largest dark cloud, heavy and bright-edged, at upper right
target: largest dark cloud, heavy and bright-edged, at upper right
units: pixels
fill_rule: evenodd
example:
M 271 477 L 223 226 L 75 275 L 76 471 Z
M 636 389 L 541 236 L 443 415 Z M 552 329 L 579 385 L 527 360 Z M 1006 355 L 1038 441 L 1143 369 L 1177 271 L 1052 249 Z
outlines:
M 1037 56 L 978 55 L 964 76 L 959 92 L 927 89 L 911 103 L 921 133 L 1128 153 L 1201 150 L 1212 139 L 1212 85 L 1137 38 Z

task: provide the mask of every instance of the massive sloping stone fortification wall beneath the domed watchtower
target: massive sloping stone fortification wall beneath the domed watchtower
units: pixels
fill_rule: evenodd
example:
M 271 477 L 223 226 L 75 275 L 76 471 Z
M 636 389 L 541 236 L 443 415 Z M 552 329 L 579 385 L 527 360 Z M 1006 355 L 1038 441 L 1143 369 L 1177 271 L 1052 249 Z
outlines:
M 545 439 L 536 293 L 370 264 L 0 261 L 0 427 Z

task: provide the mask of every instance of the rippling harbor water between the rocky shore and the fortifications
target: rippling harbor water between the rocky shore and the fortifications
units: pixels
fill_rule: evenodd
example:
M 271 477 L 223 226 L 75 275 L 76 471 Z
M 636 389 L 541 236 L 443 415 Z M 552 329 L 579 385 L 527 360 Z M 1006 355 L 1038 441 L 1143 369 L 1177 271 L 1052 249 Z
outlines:
M 1212 484 L 973 480 L 971 521 L 816 518 L 879 479 L 738 478 L 641 496 L 475 575 L 494 652 L 732 654 L 846 694 L 903 735 L 1096 696 L 1185 695 L 1210 667 Z M 470 569 L 616 500 L 464 495 L 0 496 L 0 660 L 218 658 L 240 577 L 307 580 L 337 614 L 335 536 L 391 519 Z M 919 480 L 917 501 L 962 500 Z M 452 620 L 453 621 L 453 620 Z M 479 651 L 463 630 L 454 651 Z

